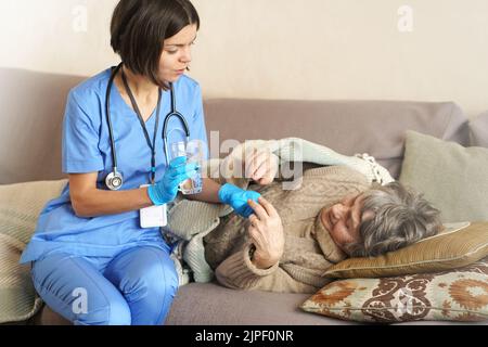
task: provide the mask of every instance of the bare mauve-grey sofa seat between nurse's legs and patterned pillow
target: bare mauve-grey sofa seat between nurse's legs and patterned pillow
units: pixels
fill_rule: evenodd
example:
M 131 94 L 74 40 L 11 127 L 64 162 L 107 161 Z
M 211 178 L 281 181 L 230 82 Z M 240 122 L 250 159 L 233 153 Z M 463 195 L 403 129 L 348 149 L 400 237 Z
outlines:
M 182 286 L 168 325 L 343 325 L 359 324 L 304 312 L 310 294 L 277 294 L 224 288 L 214 283 Z

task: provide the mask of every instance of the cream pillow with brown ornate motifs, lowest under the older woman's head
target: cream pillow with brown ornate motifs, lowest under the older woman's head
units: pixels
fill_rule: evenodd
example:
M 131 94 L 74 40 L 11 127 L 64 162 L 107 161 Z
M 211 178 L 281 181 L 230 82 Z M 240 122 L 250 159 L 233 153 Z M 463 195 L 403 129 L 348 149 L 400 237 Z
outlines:
M 335 281 L 307 299 L 307 312 L 359 322 L 488 320 L 488 258 L 438 272 Z

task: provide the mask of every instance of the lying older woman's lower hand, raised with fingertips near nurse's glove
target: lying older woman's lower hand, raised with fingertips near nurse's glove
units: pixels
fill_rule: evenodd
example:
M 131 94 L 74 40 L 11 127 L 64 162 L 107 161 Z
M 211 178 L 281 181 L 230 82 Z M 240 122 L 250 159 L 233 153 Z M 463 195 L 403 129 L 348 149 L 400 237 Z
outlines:
M 268 269 L 280 261 L 284 250 L 284 233 L 280 215 L 264 197 L 259 204 L 249 201 L 255 214 L 251 215 L 247 229 L 256 250 L 253 264 L 259 269 Z

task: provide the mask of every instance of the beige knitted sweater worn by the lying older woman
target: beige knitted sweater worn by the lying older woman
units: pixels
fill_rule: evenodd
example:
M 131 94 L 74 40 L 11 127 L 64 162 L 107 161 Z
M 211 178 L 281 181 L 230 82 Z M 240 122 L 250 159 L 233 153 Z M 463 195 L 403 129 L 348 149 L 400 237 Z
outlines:
M 319 213 L 348 194 L 369 188 L 367 178 L 346 166 L 310 169 L 300 189 L 284 191 L 274 182 L 259 192 L 278 210 L 285 234 L 279 264 L 256 268 L 249 258 L 248 220 L 230 215 L 205 240 L 205 257 L 224 286 L 286 293 L 316 293 L 331 280 L 325 270 L 346 258 L 323 227 Z

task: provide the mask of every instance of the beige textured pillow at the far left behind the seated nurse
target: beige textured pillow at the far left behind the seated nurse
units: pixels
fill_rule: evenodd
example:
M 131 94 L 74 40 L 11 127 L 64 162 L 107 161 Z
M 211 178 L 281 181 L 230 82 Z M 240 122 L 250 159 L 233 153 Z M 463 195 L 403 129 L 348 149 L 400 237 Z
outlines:
M 0 185 L 0 323 L 26 321 L 42 305 L 29 266 L 18 260 L 43 206 L 65 184 L 66 180 Z

